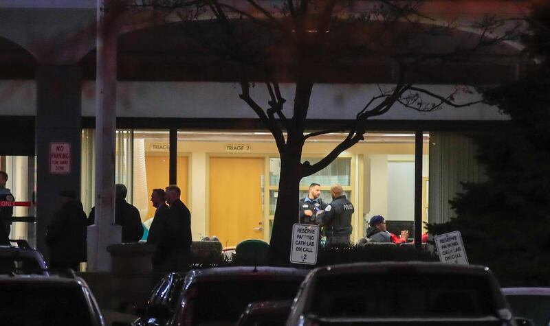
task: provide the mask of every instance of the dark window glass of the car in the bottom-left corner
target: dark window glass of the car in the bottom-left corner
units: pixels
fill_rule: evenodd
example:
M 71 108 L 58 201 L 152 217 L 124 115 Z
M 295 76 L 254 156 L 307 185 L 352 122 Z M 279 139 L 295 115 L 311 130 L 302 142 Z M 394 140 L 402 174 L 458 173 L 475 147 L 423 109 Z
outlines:
M 91 325 L 87 301 L 76 284 L 14 282 L 0 288 L 2 325 Z

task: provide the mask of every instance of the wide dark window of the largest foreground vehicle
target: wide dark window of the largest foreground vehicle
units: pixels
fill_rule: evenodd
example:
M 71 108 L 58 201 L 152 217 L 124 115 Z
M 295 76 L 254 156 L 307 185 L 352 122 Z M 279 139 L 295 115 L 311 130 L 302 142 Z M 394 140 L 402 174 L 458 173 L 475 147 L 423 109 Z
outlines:
M 490 316 L 485 277 L 464 275 L 326 275 L 306 313 L 321 317 Z

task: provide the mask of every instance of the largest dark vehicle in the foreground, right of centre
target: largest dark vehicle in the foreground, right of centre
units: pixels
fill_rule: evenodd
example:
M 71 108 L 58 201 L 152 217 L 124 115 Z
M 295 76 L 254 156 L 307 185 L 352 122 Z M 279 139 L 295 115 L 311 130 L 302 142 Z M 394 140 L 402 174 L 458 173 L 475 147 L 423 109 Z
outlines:
M 489 268 L 439 263 L 316 268 L 287 325 L 516 325 Z

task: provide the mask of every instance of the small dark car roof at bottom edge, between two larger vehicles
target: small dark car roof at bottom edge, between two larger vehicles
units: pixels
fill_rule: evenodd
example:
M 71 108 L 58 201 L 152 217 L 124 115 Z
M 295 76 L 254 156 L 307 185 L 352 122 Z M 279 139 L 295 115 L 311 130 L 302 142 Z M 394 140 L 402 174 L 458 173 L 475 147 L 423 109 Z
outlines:
M 249 303 L 236 326 L 284 326 L 292 300 Z

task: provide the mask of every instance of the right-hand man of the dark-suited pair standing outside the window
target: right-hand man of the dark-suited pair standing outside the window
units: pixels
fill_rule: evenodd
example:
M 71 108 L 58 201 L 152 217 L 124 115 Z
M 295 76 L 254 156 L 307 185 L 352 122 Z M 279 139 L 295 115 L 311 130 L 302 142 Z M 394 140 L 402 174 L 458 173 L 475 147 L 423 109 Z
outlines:
M 170 205 L 170 211 L 153 254 L 155 271 L 170 272 L 188 268 L 192 243 L 191 212 L 179 200 L 179 196 L 181 191 L 176 185 L 166 188 L 166 202 Z

